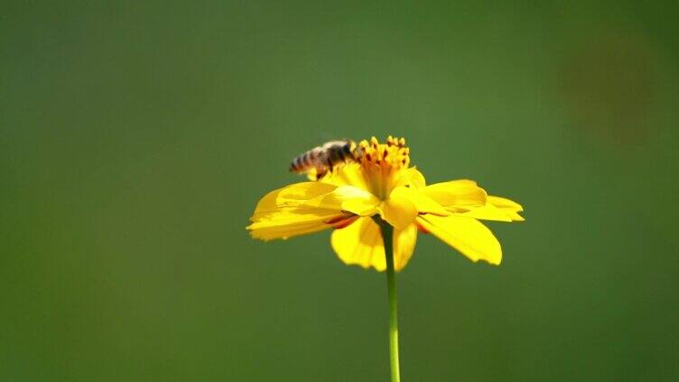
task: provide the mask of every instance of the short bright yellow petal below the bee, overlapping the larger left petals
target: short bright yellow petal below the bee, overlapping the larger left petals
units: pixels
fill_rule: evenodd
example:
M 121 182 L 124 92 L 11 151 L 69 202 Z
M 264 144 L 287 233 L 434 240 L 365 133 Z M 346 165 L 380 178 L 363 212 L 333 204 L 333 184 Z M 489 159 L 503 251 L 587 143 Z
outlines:
M 334 186 L 333 186 L 334 187 Z M 380 204 L 376 196 L 356 186 L 335 187 L 332 192 L 313 198 L 304 205 L 367 216 L 377 213 Z

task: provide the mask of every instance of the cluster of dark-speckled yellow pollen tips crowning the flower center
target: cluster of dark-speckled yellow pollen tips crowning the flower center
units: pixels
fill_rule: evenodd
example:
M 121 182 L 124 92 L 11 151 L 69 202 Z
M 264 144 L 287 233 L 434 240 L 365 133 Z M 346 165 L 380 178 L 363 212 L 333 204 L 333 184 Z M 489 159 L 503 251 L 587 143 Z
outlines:
M 364 168 L 378 166 L 397 170 L 410 165 L 410 149 L 405 147 L 405 138 L 389 135 L 386 143 L 380 143 L 377 138 L 372 137 L 370 141 L 358 143 L 358 148 L 362 153 L 360 163 Z

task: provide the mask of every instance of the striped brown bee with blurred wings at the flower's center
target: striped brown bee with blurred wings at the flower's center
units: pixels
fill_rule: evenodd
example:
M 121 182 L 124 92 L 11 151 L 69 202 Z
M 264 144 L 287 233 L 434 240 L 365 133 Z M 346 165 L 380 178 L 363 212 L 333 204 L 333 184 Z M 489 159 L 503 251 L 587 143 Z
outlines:
M 302 174 L 312 173 L 315 170 L 316 180 L 344 163 L 357 161 L 360 157 L 360 149 L 356 142 L 350 140 L 329 141 L 322 146 L 314 147 L 306 151 L 290 164 L 290 171 Z

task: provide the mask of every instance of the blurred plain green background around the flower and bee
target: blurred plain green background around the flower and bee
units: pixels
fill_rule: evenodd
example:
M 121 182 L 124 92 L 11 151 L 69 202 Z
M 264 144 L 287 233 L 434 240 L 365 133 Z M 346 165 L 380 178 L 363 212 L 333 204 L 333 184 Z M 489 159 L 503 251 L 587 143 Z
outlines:
M 386 381 L 386 277 L 245 226 L 387 134 L 527 219 L 420 236 L 405 381 L 679 379 L 675 4 L 4 3 L 0 380 Z

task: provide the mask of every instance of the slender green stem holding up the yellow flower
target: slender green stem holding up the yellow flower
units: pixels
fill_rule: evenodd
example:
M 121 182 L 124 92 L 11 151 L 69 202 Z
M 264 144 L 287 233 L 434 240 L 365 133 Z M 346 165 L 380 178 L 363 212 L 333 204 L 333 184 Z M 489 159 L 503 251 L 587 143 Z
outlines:
M 389 363 L 391 382 L 400 382 L 398 366 L 398 316 L 396 314 L 396 272 L 394 268 L 394 228 L 384 221 L 379 222 L 386 255 L 386 292 L 389 299 Z

